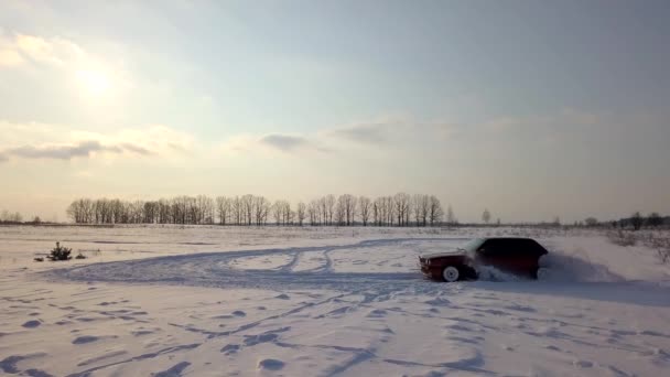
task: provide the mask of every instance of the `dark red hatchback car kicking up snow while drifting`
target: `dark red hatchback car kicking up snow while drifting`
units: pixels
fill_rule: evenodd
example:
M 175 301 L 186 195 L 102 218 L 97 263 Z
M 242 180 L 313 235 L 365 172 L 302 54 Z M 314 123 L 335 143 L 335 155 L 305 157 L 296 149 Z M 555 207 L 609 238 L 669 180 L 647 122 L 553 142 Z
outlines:
M 547 254 L 530 238 L 475 238 L 453 251 L 422 255 L 419 263 L 428 277 L 447 282 L 476 279 L 479 266 L 537 279 L 544 272 L 540 257 Z

